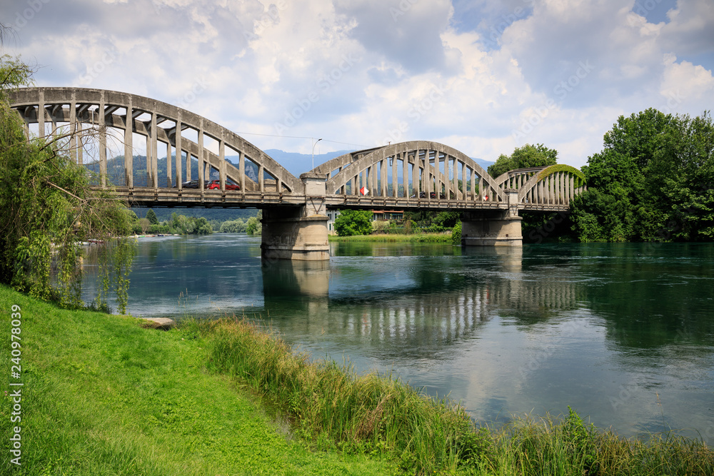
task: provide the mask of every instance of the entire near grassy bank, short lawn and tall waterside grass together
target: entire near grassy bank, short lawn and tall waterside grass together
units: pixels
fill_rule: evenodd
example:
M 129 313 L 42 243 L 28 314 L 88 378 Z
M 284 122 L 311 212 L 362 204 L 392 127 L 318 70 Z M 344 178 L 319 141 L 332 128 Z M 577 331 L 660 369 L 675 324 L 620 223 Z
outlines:
M 1 312 L 13 304 L 23 315 L 24 400 L 23 465 L 12 474 L 714 473 L 702 442 L 624 439 L 573 410 L 476 427 L 454 402 L 390 375 L 311 362 L 244 319 L 161 332 L 0 287 Z M 9 360 L 1 365 L 9 375 Z M 6 442 L 11 407 L 0 400 Z M 9 467 L 9 452 L 0 464 Z

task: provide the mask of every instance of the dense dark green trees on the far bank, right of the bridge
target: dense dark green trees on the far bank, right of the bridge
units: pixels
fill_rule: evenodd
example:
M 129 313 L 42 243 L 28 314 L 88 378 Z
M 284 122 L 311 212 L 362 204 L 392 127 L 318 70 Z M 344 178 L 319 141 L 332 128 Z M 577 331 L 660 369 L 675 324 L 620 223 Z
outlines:
M 653 108 L 620 116 L 588 158 L 588 191 L 573 201 L 582 241 L 714 238 L 714 123 Z

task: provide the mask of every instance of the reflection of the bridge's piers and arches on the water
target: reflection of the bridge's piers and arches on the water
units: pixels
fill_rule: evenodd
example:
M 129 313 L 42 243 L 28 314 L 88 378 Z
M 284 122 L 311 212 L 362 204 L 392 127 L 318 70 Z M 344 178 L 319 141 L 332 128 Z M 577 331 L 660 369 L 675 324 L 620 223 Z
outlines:
M 402 264 L 391 276 L 386 269 L 373 285 L 357 278 L 361 258 L 351 258 L 353 268 L 274 260 L 262 266 L 264 307 L 273 328 L 293 338 L 325 335 L 378 358 L 423 359 L 478 338 L 479 328 L 495 315 L 522 323 L 550 320 L 577 308 L 584 297 L 583 286 L 566 275 L 558 280 L 524 276 L 522 248 L 464 253 L 476 267 L 451 263 L 443 272 L 428 273 L 421 266 L 404 267 L 404 256 L 384 256 L 378 260 L 386 261 L 386 268 L 390 260 Z M 379 266 L 378 260 L 370 265 Z M 454 264 L 463 268 L 455 270 Z

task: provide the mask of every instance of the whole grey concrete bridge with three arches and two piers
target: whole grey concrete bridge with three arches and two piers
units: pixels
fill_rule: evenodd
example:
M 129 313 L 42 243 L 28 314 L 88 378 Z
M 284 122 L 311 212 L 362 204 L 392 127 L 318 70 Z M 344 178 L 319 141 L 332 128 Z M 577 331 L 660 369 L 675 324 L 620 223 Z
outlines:
M 466 154 L 429 141 L 355 151 L 298 178 L 238 134 L 144 96 L 20 88 L 10 102 L 28 135 L 58 139 L 73 161 L 98 172 L 97 187 L 130 205 L 262 208 L 266 258 L 329 259 L 330 208 L 460 211 L 464 245 L 520 246 L 519 211 L 567 211 L 585 190 L 570 166 L 493 178 Z M 135 143 L 145 143 L 145 163 Z M 184 188 L 193 173 L 196 188 Z

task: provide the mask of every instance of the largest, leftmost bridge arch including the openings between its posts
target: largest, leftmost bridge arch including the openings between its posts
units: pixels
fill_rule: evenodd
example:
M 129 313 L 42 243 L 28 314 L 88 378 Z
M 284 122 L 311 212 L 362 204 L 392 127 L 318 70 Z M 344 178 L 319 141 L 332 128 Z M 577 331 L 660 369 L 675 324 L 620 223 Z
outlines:
M 104 177 L 101 186 L 106 185 L 107 176 L 112 176 L 114 183 L 127 187 L 141 183 L 152 188 L 180 189 L 193 176 L 201 189 L 213 178 L 219 181 L 221 190 L 225 190 L 227 181 L 232 181 L 243 193 L 302 191 L 298 178 L 253 144 L 168 103 L 87 88 L 21 88 L 10 93 L 10 101 L 23 118 L 28 134 L 31 124 L 36 124 L 39 136 L 53 137 L 66 128 L 70 141 L 67 152 L 76 163 L 96 168 L 92 171 Z M 48 134 L 46 125 L 50 123 Z M 137 134 L 146 140 L 145 163 L 134 150 Z M 108 160 L 111 143 L 119 150 L 114 159 Z M 165 159 L 160 159 L 159 153 L 164 150 Z M 237 156 L 236 163 L 226 160 L 226 152 Z M 141 169 L 138 174 L 134 171 L 137 160 L 137 168 Z M 163 177 L 159 173 L 162 160 Z M 122 173 L 124 180 L 114 177 Z

